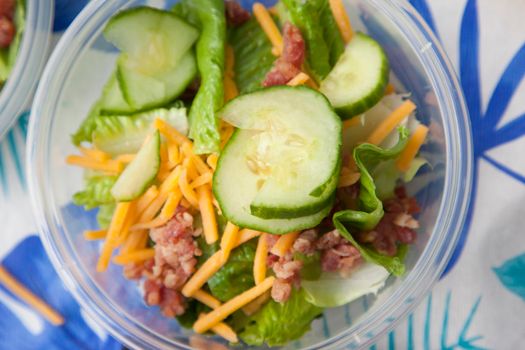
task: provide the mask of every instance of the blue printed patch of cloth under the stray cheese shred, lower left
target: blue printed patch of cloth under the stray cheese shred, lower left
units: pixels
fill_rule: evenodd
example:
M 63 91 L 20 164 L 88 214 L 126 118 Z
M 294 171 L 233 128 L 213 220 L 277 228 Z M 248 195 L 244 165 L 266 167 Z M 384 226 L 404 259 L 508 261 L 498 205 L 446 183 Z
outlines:
M 30 236 L 22 241 L 2 261 L 2 265 L 57 310 L 66 322 L 60 327 L 51 325 L 0 286 L 0 350 L 121 349 L 121 345 L 113 338 L 99 338 L 86 324 L 80 307 L 64 288 L 37 236 Z M 39 321 L 36 326 L 40 329 L 29 329 L 21 317 L 21 311 L 15 311 L 13 302 L 18 305 L 18 309 L 34 314 L 33 319 L 36 317 Z

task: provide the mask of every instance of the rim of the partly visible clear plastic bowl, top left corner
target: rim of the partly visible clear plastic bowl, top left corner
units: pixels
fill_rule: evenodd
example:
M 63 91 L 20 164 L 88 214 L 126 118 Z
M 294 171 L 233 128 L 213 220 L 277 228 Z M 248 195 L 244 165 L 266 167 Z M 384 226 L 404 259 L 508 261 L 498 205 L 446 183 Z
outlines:
M 53 0 L 26 2 L 26 21 L 18 56 L 0 92 L 0 138 L 33 97 L 48 56 L 53 27 Z

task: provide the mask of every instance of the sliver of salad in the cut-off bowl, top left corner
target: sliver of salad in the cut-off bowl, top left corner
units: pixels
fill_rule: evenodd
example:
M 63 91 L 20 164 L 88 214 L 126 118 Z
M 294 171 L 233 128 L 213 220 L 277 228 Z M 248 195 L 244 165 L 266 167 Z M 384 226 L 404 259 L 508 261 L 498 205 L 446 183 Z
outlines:
M 0 0 L 0 86 L 15 65 L 25 25 L 25 0 Z

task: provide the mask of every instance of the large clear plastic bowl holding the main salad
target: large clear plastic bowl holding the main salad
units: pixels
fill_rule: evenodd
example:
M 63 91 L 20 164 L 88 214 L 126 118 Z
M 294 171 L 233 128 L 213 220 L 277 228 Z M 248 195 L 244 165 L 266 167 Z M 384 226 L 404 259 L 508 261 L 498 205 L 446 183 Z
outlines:
M 174 1 L 168 1 L 173 4 Z M 95 271 L 100 246 L 82 231 L 94 228 L 94 213 L 71 204 L 82 187 L 82 172 L 67 166 L 75 151 L 70 134 L 86 116 L 114 68 L 116 52 L 102 38 L 118 10 L 144 1 L 93 1 L 74 21 L 54 51 L 40 82 L 31 116 L 27 165 L 34 212 L 46 250 L 78 302 L 111 334 L 131 348 L 189 348 L 212 342 L 146 307 L 135 282 L 112 266 Z M 166 1 L 146 1 L 167 6 Z M 244 2 L 246 3 L 246 1 Z M 407 257 L 408 272 L 392 278 L 378 296 L 327 310 L 312 331 L 285 348 L 359 348 L 370 345 L 407 315 L 439 278 L 460 233 L 472 178 L 469 122 L 462 93 L 443 50 L 405 1 L 346 1 L 353 25 L 370 33 L 387 51 L 396 87 L 412 92 L 418 116 L 431 126 L 441 163 L 409 188 L 423 211 L 418 243 Z M 436 146 L 437 145 L 437 146 Z M 433 181 L 428 184 L 428 180 Z

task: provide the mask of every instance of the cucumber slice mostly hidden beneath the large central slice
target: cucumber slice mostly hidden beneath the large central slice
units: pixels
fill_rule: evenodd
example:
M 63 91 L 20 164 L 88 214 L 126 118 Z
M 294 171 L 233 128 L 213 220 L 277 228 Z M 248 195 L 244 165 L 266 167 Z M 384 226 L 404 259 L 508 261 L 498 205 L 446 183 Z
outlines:
M 318 225 L 329 214 L 332 202 L 313 215 L 299 218 L 263 219 L 250 213 L 250 202 L 257 195 L 259 178 L 253 176 L 245 161 L 239 160 L 246 159 L 244 146 L 255 134 L 249 130 L 235 131 L 217 164 L 212 188 L 223 215 L 238 226 L 272 234 L 285 234 Z

